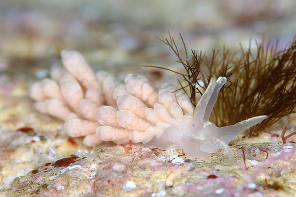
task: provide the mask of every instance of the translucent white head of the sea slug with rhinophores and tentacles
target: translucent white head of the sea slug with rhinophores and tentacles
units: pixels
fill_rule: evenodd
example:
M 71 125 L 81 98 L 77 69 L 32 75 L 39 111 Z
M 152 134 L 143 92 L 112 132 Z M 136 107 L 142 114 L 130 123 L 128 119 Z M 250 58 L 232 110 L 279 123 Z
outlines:
M 169 127 L 157 138 L 151 141 L 156 147 L 169 149 L 181 148 L 191 158 L 206 157 L 224 149 L 225 154 L 232 158 L 229 142 L 242 131 L 259 124 L 267 116 L 256 116 L 243 120 L 231 126 L 217 127 L 209 121 L 211 112 L 219 92 L 226 83 L 225 77 L 217 80 L 212 78 L 195 107 L 193 118 L 179 126 Z

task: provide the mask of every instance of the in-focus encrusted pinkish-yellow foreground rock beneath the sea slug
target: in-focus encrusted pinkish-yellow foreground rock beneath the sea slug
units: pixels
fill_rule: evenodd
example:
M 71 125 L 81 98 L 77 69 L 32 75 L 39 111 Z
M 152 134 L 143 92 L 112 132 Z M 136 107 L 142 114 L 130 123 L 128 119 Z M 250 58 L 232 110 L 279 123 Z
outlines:
M 178 150 L 139 145 L 111 146 L 89 156 L 82 156 L 87 151 L 80 150 L 80 155 L 53 159 L 36 167 L 27 164 L 27 170 L 32 170 L 2 188 L 0 197 L 294 196 L 296 147 L 290 142 L 270 144 L 271 138 L 263 133 L 249 141 L 235 140 L 231 147 L 234 160 L 229 160 L 222 150 L 195 160 L 187 159 Z M 5 148 L 9 149 L 1 145 L 1 152 Z M 0 159 L 13 154 L 17 153 L 6 151 Z

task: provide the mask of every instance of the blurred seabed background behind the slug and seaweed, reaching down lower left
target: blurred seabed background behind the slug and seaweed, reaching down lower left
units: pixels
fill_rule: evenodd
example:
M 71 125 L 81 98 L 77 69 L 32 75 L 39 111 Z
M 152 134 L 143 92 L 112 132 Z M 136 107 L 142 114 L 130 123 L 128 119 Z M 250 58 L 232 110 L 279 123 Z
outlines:
M 34 111 L 27 87 L 48 76 L 50 66 L 62 66 L 64 48 L 78 50 L 95 70 L 176 82 L 176 74 L 142 67 L 177 68 L 175 55 L 156 36 L 167 38 L 170 31 L 182 48 L 182 33 L 188 50 L 207 54 L 224 44 L 247 49 L 251 38 L 253 45 L 262 37 L 279 39 L 283 49 L 296 35 L 295 10 L 296 0 L 0 0 L 0 189 L 39 165 L 48 146 L 61 143 L 43 143 L 58 136 L 60 122 Z M 290 120 L 284 125 L 296 125 Z M 14 132 L 27 126 L 38 131 L 40 143 Z M 74 154 L 64 142 L 56 146 L 61 154 Z

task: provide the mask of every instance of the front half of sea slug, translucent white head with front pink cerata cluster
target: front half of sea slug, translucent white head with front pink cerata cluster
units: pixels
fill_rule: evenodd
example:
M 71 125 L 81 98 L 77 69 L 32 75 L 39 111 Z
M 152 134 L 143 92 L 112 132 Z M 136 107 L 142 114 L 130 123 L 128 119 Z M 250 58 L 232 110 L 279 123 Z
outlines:
M 219 149 L 232 157 L 229 142 L 267 116 L 216 127 L 209 118 L 225 83 L 225 77 L 212 78 L 194 109 L 188 96 L 174 86 L 164 83 L 158 91 L 145 77 L 129 74 L 125 86 L 114 88 L 118 110 L 110 106 L 96 110 L 97 120 L 104 125 L 96 132 L 105 141 L 126 143 L 131 139 L 160 149 L 178 148 L 192 158 L 206 157 Z

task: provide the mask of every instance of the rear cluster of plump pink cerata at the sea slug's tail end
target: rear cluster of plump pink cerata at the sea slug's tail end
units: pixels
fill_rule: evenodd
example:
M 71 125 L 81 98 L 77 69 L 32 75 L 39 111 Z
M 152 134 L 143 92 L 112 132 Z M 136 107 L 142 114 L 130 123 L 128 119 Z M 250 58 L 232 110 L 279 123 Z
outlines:
M 30 86 L 30 97 L 36 101 L 37 111 L 63 121 L 63 130 L 69 136 L 85 136 L 84 145 L 98 145 L 103 140 L 95 133 L 101 126 L 95 119 L 95 110 L 103 104 L 116 106 L 112 89 L 119 82 L 106 71 L 95 73 L 75 50 L 65 49 L 61 57 L 66 70 L 53 67 L 50 78 Z

